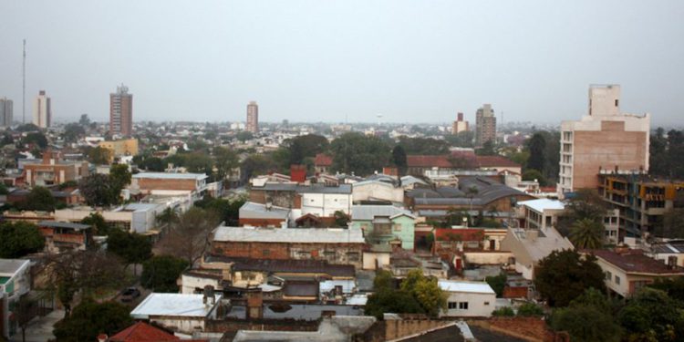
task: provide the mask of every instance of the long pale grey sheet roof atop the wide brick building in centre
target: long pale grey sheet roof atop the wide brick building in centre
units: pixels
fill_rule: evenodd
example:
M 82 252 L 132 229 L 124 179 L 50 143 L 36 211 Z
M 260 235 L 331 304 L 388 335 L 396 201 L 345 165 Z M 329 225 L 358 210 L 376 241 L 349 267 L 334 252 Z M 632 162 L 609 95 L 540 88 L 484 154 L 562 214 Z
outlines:
M 245 243 L 364 244 L 359 229 L 218 227 L 213 240 Z

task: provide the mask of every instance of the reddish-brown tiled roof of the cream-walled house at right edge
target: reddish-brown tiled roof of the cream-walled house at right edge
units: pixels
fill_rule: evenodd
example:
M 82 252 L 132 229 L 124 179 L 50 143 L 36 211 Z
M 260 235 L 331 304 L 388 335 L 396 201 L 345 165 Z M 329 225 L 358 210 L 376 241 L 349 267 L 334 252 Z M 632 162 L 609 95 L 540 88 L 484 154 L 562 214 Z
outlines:
M 596 249 L 586 250 L 584 252 L 594 254 L 596 257 L 605 260 L 607 263 L 616 265 L 617 268 L 620 268 L 627 273 L 684 275 L 684 268 L 669 268 L 664 262 L 650 258 L 637 250 L 628 250 L 627 252 L 619 254 L 613 251 Z

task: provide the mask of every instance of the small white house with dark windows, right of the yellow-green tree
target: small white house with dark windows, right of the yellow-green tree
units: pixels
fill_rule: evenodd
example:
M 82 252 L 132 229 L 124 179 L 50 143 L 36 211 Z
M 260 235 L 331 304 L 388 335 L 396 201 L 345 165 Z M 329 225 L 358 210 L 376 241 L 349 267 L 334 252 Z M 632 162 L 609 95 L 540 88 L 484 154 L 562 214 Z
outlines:
M 437 284 L 449 295 L 447 310 L 440 316 L 489 317 L 496 308 L 496 293 L 487 283 L 440 280 Z

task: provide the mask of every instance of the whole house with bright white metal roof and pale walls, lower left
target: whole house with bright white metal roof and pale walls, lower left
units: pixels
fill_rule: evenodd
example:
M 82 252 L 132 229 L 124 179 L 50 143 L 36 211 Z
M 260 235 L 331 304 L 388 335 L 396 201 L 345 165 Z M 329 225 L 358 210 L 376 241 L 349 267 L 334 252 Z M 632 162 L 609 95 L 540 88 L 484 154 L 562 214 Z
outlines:
M 206 322 L 219 316 L 222 295 L 207 291 L 202 295 L 152 293 L 130 312 L 133 319 L 146 320 L 175 332 L 204 331 Z

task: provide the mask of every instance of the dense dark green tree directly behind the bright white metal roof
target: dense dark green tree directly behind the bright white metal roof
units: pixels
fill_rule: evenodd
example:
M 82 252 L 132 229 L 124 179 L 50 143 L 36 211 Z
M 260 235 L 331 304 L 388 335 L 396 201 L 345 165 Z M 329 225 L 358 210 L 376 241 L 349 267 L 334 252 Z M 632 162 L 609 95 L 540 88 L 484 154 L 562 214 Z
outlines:
M 142 264 L 140 284 L 154 292 L 178 292 L 176 283 L 188 262 L 171 255 L 152 256 Z

